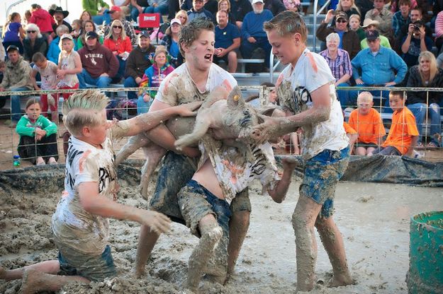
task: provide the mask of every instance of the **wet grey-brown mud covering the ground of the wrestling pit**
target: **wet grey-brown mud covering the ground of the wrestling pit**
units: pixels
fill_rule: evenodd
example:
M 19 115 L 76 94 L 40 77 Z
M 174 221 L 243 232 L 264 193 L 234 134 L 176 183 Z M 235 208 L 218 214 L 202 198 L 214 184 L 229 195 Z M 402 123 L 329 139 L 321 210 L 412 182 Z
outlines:
M 119 201 L 146 208 L 134 184 L 121 182 Z M 150 189 L 152 189 L 152 184 Z M 40 189 L 42 190 L 42 189 Z M 298 199 L 298 182 L 291 184 L 283 204 L 250 189 L 252 217 L 249 232 L 230 283 L 202 282 L 201 293 L 293 293 L 296 289 L 295 243 L 291 215 Z M 152 193 L 152 191 L 151 191 Z M 410 216 L 443 206 L 442 189 L 398 184 L 340 182 L 335 220 L 344 236 L 349 269 L 356 285 L 325 288 L 312 293 L 407 293 Z M 0 194 L 0 264 L 6 269 L 55 259 L 50 218 L 60 192 Z M 184 225 L 160 237 L 147 264 L 149 276 L 135 279 L 139 225 L 111 220 L 111 247 L 119 275 L 89 286 L 71 285 L 60 293 L 180 293 L 186 266 L 198 239 Z M 318 238 L 318 279 L 332 274 Z M 0 282 L 0 293 L 16 293 L 21 281 Z

